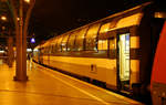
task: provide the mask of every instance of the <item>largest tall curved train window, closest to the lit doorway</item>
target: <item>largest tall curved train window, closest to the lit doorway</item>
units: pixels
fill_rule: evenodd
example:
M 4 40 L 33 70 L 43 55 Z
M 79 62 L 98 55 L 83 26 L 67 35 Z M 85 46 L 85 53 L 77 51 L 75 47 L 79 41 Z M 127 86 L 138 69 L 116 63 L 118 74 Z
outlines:
M 87 33 L 86 33 L 86 43 L 85 43 L 85 50 L 87 51 L 95 51 L 96 49 L 96 36 L 100 29 L 100 23 L 93 24 L 90 27 Z

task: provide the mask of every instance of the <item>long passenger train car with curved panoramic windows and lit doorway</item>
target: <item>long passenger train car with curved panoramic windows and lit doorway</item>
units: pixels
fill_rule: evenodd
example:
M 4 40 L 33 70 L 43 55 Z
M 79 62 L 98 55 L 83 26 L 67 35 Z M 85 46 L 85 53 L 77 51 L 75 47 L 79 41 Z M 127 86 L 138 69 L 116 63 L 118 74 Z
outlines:
M 50 39 L 33 61 L 146 97 L 164 17 L 152 2 L 137 6 Z

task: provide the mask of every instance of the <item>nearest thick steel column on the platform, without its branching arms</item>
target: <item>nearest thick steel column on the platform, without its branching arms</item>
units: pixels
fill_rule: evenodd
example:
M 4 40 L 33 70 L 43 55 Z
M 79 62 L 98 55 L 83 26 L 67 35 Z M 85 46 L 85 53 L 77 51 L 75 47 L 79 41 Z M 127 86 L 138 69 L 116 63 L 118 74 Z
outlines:
M 23 0 L 20 0 L 19 34 L 17 34 L 17 71 L 15 81 L 28 81 L 27 76 L 27 34 L 23 34 Z

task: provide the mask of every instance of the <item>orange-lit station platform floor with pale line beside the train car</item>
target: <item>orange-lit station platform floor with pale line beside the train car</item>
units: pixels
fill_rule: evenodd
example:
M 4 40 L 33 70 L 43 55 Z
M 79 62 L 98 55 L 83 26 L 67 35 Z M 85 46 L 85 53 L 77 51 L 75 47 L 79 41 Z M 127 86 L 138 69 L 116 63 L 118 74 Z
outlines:
M 0 105 L 143 105 L 32 61 L 29 81 L 13 81 L 14 70 L 0 63 Z

